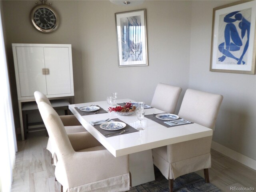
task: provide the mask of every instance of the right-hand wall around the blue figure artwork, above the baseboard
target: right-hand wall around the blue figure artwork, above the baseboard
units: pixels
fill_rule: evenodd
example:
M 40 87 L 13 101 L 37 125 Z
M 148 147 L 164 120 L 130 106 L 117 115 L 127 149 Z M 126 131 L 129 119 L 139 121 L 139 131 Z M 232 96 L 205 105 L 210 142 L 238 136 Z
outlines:
M 222 94 L 213 140 L 256 160 L 256 77 L 210 72 L 212 9 L 232 1 L 192 1 L 189 87 Z

